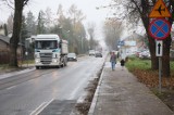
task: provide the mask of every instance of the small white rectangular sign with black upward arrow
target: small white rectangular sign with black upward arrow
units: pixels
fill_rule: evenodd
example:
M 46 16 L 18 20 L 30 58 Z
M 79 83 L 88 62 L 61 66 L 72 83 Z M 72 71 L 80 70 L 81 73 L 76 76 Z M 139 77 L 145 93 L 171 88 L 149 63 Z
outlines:
M 161 40 L 156 41 L 156 56 L 162 56 L 163 42 Z

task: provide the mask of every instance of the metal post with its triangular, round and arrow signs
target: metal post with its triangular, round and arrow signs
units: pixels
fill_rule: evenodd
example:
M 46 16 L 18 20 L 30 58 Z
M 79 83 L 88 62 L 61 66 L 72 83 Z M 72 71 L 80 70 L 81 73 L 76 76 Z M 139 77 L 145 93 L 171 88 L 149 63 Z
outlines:
M 162 60 L 163 55 L 163 42 L 169 37 L 171 33 L 171 24 L 166 17 L 171 17 L 171 13 L 163 0 L 158 0 L 149 14 L 152 22 L 149 25 L 149 35 L 157 39 L 156 41 L 156 56 L 159 56 L 159 92 L 161 93 L 161 77 L 162 77 Z

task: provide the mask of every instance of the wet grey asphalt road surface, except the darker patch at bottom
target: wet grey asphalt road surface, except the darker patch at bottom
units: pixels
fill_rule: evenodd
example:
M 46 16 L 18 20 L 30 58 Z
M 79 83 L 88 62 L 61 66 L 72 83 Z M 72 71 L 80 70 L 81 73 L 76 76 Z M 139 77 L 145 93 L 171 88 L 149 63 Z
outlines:
M 63 68 L 44 68 L 0 80 L 0 115 L 34 115 L 53 100 L 78 100 L 104 58 L 85 56 Z

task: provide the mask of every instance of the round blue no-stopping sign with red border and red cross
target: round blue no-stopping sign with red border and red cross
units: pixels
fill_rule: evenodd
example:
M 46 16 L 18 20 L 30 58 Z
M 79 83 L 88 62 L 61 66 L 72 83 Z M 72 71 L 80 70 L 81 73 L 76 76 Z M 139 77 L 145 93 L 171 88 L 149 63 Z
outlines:
M 149 34 L 158 40 L 163 40 L 171 33 L 171 24 L 163 18 L 153 20 L 149 25 Z

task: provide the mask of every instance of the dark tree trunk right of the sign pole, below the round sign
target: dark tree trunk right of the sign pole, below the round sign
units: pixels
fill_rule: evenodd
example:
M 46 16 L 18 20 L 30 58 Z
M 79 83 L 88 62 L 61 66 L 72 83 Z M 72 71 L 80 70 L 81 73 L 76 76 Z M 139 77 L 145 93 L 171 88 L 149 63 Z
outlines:
M 171 48 L 171 36 L 163 40 L 163 56 L 162 56 L 162 75 L 170 77 L 170 48 Z

